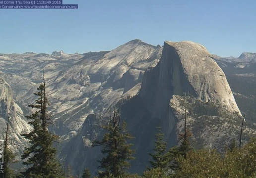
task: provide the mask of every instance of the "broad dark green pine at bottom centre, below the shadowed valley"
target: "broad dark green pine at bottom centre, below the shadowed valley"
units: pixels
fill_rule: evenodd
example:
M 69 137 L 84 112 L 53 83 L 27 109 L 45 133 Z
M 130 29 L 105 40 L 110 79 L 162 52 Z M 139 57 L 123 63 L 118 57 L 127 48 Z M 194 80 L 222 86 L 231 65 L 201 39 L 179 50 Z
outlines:
M 113 175 L 115 178 L 122 177 L 127 174 L 129 168 L 128 160 L 134 159 L 131 155 L 134 153 L 130 147 L 133 144 L 127 143 L 127 140 L 134 137 L 126 130 L 126 123 L 123 121 L 121 125 L 120 114 L 114 110 L 110 115 L 110 121 L 107 126 L 102 126 L 107 131 L 101 141 L 93 141 L 93 146 L 102 145 L 101 153 L 106 155 L 99 161 L 100 169 L 98 175 L 100 178 Z

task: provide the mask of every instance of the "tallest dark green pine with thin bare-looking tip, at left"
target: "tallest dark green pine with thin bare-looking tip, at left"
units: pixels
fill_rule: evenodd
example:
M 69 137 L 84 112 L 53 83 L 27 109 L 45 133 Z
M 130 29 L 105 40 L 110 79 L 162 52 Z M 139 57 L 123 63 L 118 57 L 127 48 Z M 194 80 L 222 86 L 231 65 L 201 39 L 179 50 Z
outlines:
M 33 130 L 28 134 L 22 134 L 29 140 L 30 147 L 26 147 L 21 159 L 23 165 L 27 166 L 25 172 L 21 172 L 21 178 L 63 178 L 60 163 L 57 160 L 57 150 L 53 147 L 53 142 L 59 136 L 48 131 L 48 126 L 52 124 L 47 114 L 47 97 L 45 91 L 45 76 L 43 84 L 34 93 L 38 99 L 36 104 L 29 107 L 36 108 L 37 111 L 27 117 Z

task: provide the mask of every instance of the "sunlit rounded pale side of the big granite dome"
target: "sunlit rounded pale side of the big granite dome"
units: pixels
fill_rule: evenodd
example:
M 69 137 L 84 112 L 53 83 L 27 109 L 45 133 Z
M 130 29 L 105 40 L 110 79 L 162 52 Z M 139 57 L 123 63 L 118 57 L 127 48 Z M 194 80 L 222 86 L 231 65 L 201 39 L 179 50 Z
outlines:
M 165 42 L 165 47 L 165 50 L 173 53 L 173 55 L 177 55 L 171 60 L 174 60 L 174 64 L 175 60 L 181 62 L 184 74 L 198 99 L 201 99 L 203 102 L 220 103 L 226 106 L 227 110 L 240 113 L 224 72 L 209 57 L 211 55 L 204 46 L 193 42 Z M 170 55 L 164 56 L 164 52 L 163 59 L 170 60 Z M 175 80 L 179 79 L 174 79 L 173 77 L 173 82 Z M 174 94 L 180 94 L 177 91 L 181 88 L 182 86 L 175 85 Z

